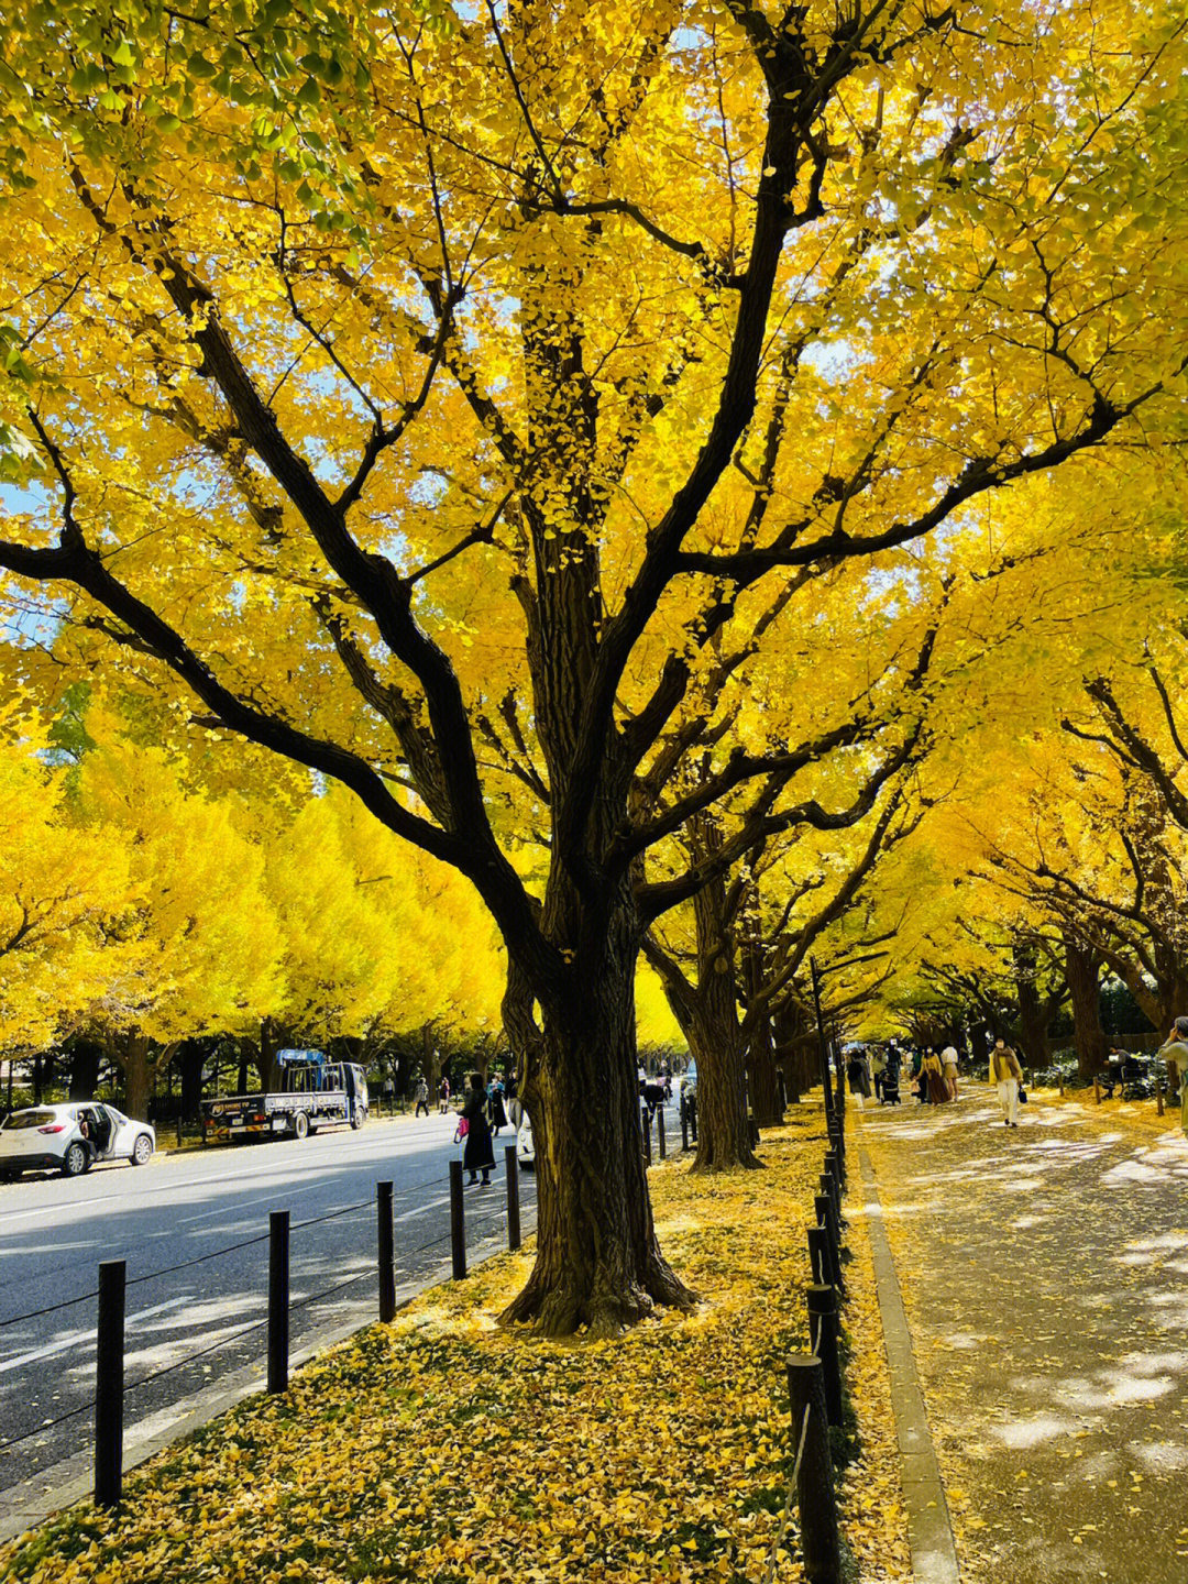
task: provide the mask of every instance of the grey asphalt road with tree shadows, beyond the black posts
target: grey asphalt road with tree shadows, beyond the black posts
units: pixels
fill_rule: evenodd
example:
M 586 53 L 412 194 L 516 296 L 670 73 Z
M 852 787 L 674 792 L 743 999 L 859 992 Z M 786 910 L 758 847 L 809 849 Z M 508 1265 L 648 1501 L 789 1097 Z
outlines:
M 157 1155 L 0 1186 L 0 1491 L 90 1446 L 98 1264 L 127 1261 L 125 1426 L 265 1354 L 268 1217 L 291 1217 L 290 1346 L 377 1316 L 375 1183 L 393 1182 L 398 1288 L 450 1256 L 456 1118 Z M 165 1142 L 165 1140 L 163 1140 Z M 467 1245 L 507 1234 L 504 1145 L 466 1196 Z M 535 1182 L 520 1177 L 524 1229 Z M 182 1269 L 177 1269 L 177 1267 Z

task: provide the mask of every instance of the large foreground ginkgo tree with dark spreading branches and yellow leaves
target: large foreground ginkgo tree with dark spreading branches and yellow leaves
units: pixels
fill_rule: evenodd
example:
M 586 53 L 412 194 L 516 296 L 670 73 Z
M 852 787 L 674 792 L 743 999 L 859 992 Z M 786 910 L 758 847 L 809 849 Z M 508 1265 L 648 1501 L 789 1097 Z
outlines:
M 512 1318 L 689 1302 L 635 958 L 870 729 L 735 724 L 789 599 L 841 567 L 860 621 L 977 496 L 1167 434 L 1183 67 L 1177 11 L 1098 0 L 11 19 L 0 565 L 59 659 L 111 640 L 477 887 L 539 1131 Z

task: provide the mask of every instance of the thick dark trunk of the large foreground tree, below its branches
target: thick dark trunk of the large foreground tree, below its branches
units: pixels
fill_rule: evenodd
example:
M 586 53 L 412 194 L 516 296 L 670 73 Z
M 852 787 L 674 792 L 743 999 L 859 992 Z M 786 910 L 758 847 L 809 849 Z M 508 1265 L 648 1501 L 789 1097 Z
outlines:
M 656 1304 L 694 1302 L 661 1255 L 648 1198 L 637 950 L 630 920 L 619 917 L 604 950 L 591 950 L 581 973 L 542 1003 L 539 1030 L 523 985 L 510 985 L 504 1003 L 537 1153 L 537 1259 L 502 1319 L 532 1321 L 545 1335 L 581 1326 L 597 1337 L 616 1335 Z

